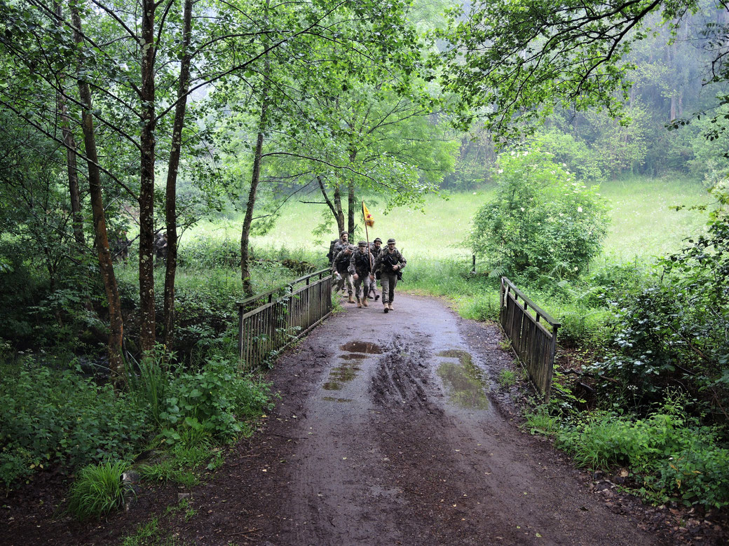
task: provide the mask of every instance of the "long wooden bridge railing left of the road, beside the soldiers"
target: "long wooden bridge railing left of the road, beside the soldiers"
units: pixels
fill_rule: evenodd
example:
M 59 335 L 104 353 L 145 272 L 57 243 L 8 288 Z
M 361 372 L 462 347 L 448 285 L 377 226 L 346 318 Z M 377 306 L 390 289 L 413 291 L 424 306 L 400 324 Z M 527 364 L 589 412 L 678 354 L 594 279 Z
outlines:
M 279 295 L 281 292 L 283 295 Z M 239 368 L 241 371 L 256 368 L 331 312 L 332 271 L 329 268 L 238 302 Z

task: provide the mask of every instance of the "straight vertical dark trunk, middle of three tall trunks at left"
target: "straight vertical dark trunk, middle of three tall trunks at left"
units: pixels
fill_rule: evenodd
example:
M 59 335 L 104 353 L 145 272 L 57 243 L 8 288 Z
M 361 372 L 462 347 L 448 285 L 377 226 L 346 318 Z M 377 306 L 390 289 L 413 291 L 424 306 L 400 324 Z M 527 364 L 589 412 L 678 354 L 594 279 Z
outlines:
M 145 354 L 155 349 L 155 8 L 155 0 L 142 1 L 139 344 Z

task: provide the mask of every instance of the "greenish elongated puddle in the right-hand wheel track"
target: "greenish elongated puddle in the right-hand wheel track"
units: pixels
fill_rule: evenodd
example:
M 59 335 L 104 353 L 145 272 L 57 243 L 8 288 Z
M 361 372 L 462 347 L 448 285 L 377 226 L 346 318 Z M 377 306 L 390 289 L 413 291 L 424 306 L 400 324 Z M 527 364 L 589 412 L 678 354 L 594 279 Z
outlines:
M 459 363 L 444 362 L 438 366 L 438 375 L 443 379 L 451 402 L 467 409 L 488 409 L 486 384 L 483 381 L 471 355 L 458 349 L 441 351 L 436 356 L 457 358 Z

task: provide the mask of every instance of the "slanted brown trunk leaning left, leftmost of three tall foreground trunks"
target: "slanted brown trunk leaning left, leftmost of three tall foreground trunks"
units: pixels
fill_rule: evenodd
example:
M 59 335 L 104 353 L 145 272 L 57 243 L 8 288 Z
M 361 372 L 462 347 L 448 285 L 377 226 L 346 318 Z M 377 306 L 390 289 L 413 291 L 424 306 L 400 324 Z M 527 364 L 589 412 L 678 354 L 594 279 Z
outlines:
M 71 2 L 71 20 L 74 24 L 74 41 L 83 47 L 81 36 L 81 16 L 74 2 Z M 95 248 L 98 253 L 98 264 L 101 269 L 101 278 L 104 280 L 106 301 L 109 305 L 109 368 L 112 371 L 114 383 L 125 382 L 124 360 L 122 359 L 122 339 L 124 336 L 124 323 L 122 320 L 122 306 L 119 298 L 117 278 L 114 276 L 112 253 L 109 252 L 109 239 L 106 236 L 106 217 L 104 215 L 104 199 L 101 194 L 101 170 L 98 167 L 98 154 L 96 152 L 96 139 L 94 135 L 93 116 L 91 115 L 91 91 L 84 80 L 82 62 L 78 63 L 79 98 L 82 108 L 82 127 L 86 151 L 89 193 L 91 197 L 91 211 L 93 213 L 93 229 L 95 234 Z

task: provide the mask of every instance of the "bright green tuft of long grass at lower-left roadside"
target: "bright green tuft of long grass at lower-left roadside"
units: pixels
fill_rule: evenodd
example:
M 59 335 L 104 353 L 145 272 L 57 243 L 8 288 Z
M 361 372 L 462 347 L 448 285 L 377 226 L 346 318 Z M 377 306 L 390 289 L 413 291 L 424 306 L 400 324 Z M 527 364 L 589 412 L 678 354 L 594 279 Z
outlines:
M 79 520 L 108 514 L 124 504 L 125 462 L 91 464 L 79 471 L 69 492 L 69 512 Z

